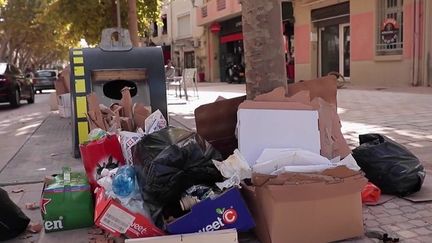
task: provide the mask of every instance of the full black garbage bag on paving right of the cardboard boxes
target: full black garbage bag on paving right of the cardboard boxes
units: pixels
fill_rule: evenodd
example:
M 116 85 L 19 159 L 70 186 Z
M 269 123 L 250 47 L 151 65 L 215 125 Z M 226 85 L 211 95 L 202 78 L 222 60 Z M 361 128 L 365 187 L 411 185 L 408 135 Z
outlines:
M 360 135 L 353 157 L 366 177 L 385 194 L 407 196 L 420 190 L 426 173 L 419 159 L 380 134 Z

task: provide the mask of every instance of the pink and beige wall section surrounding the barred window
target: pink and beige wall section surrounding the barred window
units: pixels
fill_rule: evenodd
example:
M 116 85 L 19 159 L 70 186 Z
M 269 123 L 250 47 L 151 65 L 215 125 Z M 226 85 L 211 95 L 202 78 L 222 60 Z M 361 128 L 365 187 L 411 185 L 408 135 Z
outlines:
M 351 83 L 406 86 L 412 77 L 412 0 L 404 1 L 404 49 L 402 55 L 375 54 L 376 0 L 350 1 Z

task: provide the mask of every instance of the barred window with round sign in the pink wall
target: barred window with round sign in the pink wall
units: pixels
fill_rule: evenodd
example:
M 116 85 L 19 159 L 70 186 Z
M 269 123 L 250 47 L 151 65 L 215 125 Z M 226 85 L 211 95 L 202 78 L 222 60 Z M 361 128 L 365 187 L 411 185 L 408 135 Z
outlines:
M 403 0 L 378 0 L 377 55 L 400 55 L 403 50 Z

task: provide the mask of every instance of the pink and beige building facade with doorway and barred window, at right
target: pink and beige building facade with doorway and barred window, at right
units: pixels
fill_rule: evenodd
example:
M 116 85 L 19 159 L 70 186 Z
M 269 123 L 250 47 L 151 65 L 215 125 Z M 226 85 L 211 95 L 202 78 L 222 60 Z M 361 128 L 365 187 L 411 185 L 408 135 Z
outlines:
M 429 0 L 294 0 L 296 80 L 336 71 L 354 84 L 431 84 Z

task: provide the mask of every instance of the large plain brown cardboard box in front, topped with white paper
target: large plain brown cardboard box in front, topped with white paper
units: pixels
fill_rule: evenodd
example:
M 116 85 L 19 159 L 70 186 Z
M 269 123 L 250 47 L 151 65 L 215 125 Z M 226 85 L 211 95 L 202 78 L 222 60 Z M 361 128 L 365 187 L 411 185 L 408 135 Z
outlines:
M 262 243 L 331 242 L 364 233 L 360 192 L 367 179 L 337 167 L 320 174 L 254 174 L 243 194 Z

